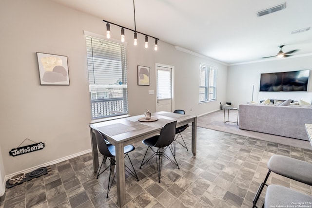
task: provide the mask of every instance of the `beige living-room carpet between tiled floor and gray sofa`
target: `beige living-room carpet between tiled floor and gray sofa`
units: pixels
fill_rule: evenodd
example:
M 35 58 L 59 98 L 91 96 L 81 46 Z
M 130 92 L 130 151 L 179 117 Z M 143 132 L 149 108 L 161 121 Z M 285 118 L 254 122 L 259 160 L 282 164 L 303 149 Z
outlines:
M 312 150 L 309 141 L 300 139 L 293 139 L 289 137 L 277 136 L 267 133 L 253 132 L 248 130 L 241 130 L 236 123 L 226 122 L 223 123 L 223 110 L 219 110 L 213 113 L 208 113 L 197 117 L 197 126 L 207 129 L 213 129 L 220 132 L 234 133 L 242 136 L 248 136 L 265 141 L 271 141 L 283 145 L 290 145 L 292 147 L 299 147 L 303 149 Z M 227 120 L 227 111 L 225 113 L 225 119 Z M 229 112 L 229 121 L 237 120 L 237 111 Z M 238 121 L 239 124 L 239 121 Z

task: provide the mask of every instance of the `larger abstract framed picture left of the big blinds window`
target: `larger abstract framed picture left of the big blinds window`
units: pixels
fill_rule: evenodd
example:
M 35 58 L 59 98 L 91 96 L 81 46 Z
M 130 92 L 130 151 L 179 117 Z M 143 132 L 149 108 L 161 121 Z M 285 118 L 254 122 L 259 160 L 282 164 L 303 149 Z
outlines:
M 41 85 L 69 85 L 66 56 L 37 52 Z

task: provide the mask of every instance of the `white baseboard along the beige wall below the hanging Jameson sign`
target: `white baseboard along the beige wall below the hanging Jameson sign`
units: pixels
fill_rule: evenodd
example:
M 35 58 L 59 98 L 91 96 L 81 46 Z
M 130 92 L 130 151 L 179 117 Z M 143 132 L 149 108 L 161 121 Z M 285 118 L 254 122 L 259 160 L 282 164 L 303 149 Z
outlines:
M 72 155 L 68 155 L 66 157 L 62 157 L 62 158 L 59 158 L 57 160 L 53 160 L 53 161 L 50 161 L 50 162 L 47 162 L 47 163 L 44 163 L 44 164 L 41 164 L 39 166 L 35 166 L 35 167 L 32 167 L 32 168 L 29 168 L 29 169 L 25 169 L 25 170 L 21 170 L 19 172 L 15 172 L 15 173 L 12 173 L 10 175 L 6 175 L 4 177 L 4 181 L 2 182 L 2 187 L 0 187 L 0 196 L 2 196 L 4 194 L 4 191 L 5 191 L 5 186 L 6 186 L 6 181 L 9 180 L 12 176 L 16 175 L 16 174 L 19 174 L 19 173 L 28 173 L 28 172 L 31 172 L 31 171 L 34 171 L 34 170 L 37 170 L 41 167 L 46 167 L 46 166 L 50 166 L 50 165 L 54 165 L 54 164 L 57 164 L 59 162 L 63 162 L 65 160 L 69 160 L 69 159 L 72 159 L 74 157 L 78 157 L 80 155 L 83 155 L 83 154 L 86 154 L 86 153 L 89 153 L 91 152 L 92 150 L 89 149 L 89 150 L 86 150 L 86 151 L 80 151 L 78 153 L 75 153 L 75 154 L 72 154 Z M 3 189 L 3 193 L 1 191 L 1 188 Z

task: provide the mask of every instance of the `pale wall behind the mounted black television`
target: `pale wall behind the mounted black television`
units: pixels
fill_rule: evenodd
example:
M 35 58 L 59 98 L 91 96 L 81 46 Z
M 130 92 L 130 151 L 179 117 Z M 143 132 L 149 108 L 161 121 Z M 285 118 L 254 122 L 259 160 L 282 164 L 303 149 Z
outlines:
M 252 101 L 254 86 L 254 101 L 265 99 L 299 99 L 312 101 L 312 72 L 307 92 L 259 92 L 260 74 L 271 72 L 288 72 L 297 70 L 312 70 L 312 56 L 288 57 L 258 63 L 248 63 L 229 66 L 227 81 L 227 100 L 238 107 L 239 104 Z

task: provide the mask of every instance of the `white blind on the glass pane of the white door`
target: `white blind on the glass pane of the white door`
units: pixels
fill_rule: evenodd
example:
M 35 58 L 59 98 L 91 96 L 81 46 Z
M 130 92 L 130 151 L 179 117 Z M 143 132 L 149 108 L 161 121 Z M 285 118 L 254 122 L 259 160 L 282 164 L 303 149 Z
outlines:
M 158 99 L 171 99 L 171 72 L 157 70 L 157 96 Z

